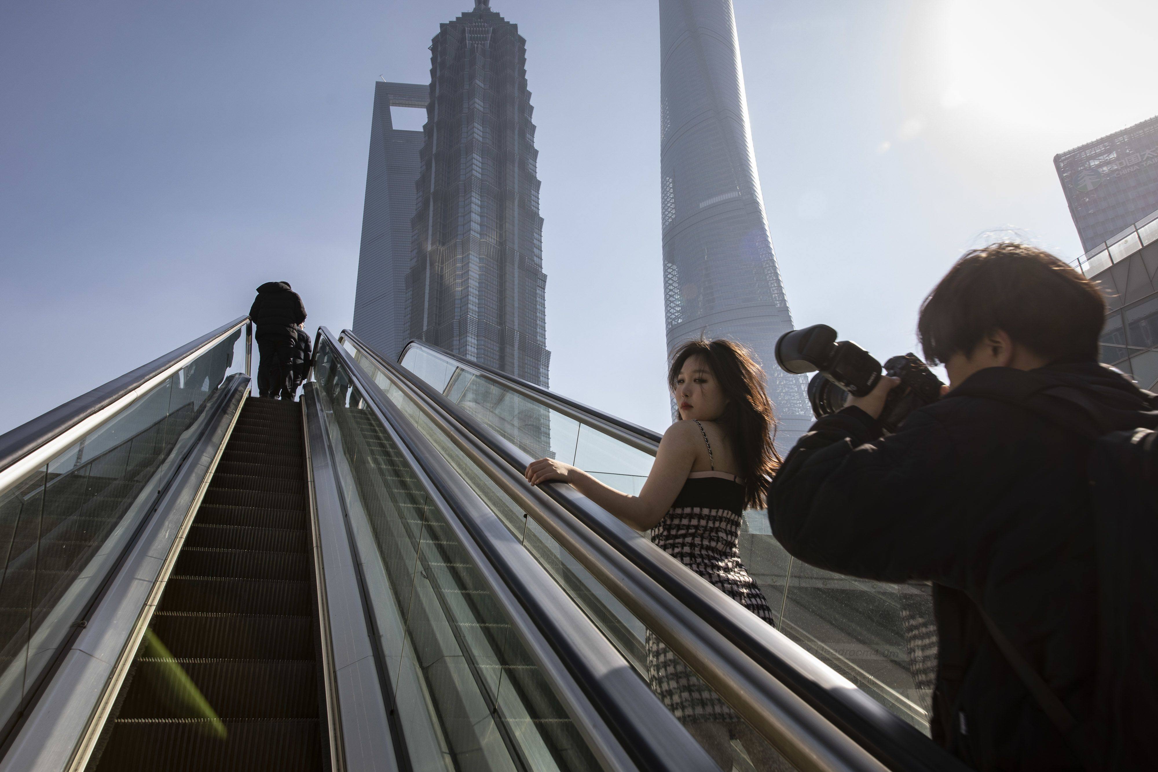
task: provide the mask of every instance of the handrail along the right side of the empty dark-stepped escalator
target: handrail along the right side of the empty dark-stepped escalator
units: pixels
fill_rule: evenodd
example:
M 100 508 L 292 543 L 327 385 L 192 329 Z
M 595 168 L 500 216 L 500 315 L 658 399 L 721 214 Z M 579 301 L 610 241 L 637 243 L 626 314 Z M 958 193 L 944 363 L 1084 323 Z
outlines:
M 398 435 L 422 473 L 441 497 L 445 506 L 454 513 L 455 520 L 462 523 L 470 534 L 474 543 L 485 556 L 489 566 L 497 572 L 500 581 L 516 598 L 520 608 L 508 608 L 506 609 L 507 613 L 514 612 L 527 618 L 528 624 L 542 635 L 550 649 L 554 650 L 555 656 L 570 671 L 587 700 L 601 714 L 604 725 L 593 727 L 592 730 L 610 733 L 610 737 L 602 740 L 602 742 L 622 745 L 638 760 L 640 770 L 714 769 L 714 764 L 706 752 L 687 731 L 680 728 L 674 716 L 658 699 L 632 701 L 630 705 L 624 703 L 622 697 L 624 690 L 628 693 L 646 697 L 651 697 L 651 691 L 625 661 L 620 659 L 622 668 L 608 669 L 608 662 L 599 660 L 592 650 L 585 648 L 581 637 L 573 639 L 566 633 L 567 630 L 589 628 L 600 640 L 603 640 L 601 633 L 594 631 L 593 623 L 582 611 L 576 606 L 554 604 L 544 593 L 543 587 L 530 581 L 530 578 L 523 575 L 518 565 L 511 563 L 508 553 L 493 543 L 494 537 L 479 528 L 477 520 L 468 514 L 470 505 L 467 501 L 477 494 L 467 481 L 453 471 L 449 462 L 404 417 L 401 409 L 386 397 L 382 389 L 371 381 L 345 346 L 324 326 L 318 330 L 318 339 L 323 338 L 342 360 L 343 366 L 353 378 L 354 385 L 369 403 L 379 420 L 387 424 Z M 431 500 L 441 503 L 437 501 L 437 497 L 431 497 Z M 493 516 L 493 513 L 488 512 L 488 514 Z M 499 527 L 505 534 L 510 534 L 506 525 Z M 520 552 L 518 554 L 526 556 L 530 565 L 538 567 L 529 553 Z M 536 611 L 536 613 L 532 615 L 532 611 Z M 610 648 L 610 644 L 606 644 L 606 646 L 615 653 L 616 657 L 620 656 Z M 584 711 L 578 709 L 577 712 L 582 713 Z M 657 736 L 662 729 L 669 727 L 675 731 L 664 731 Z M 618 738 L 611 740 L 616 735 Z M 661 740 L 667 742 L 660 742 Z

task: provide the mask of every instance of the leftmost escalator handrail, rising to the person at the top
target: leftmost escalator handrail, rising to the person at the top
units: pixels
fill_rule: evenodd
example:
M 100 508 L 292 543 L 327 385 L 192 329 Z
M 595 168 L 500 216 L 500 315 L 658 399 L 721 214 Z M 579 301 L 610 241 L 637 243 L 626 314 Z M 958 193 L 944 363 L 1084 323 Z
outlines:
M 53 440 L 97 413 L 124 407 L 133 400 L 137 390 L 151 385 L 154 381 L 168 377 L 173 372 L 179 369 L 177 366 L 184 360 L 191 356 L 196 358 L 203 350 L 210 348 L 220 339 L 232 334 L 248 321 L 249 316 L 241 316 L 212 332 L 174 348 L 163 356 L 157 356 L 147 365 L 141 365 L 134 370 L 130 370 L 0 434 L 0 491 L 15 481 L 14 478 L 23 477 L 25 468 L 37 466 L 38 464 L 32 463 L 35 457 L 51 456 L 59 450 L 59 448 L 47 447 Z M 14 469 L 17 463 L 20 468 Z

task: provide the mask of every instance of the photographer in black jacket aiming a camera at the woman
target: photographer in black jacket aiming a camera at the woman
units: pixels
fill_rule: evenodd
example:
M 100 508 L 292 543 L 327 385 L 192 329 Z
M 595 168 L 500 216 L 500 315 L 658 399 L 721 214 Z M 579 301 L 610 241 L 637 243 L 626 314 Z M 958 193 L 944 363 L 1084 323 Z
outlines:
M 1105 311 L 1093 284 L 1041 250 L 968 252 L 918 322 L 925 359 L 948 373 L 945 396 L 882 439 L 878 417 L 899 381 L 881 377 L 818 420 L 771 485 L 772 531 L 797 558 L 933 583 L 932 734 L 976 769 L 1080 770 L 1104 755 L 1091 726 L 1086 461 L 1099 432 L 1158 426 L 1158 398 L 1097 361 Z M 1058 388 L 1070 396 L 1046 394 Z M 979 604 L 1078 729 L 1055 726 Z

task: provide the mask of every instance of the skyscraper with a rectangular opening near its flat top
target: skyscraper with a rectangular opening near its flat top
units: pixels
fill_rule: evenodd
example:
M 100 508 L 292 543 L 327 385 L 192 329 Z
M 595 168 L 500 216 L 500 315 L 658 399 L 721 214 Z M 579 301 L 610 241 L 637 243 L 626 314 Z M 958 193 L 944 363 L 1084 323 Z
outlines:
M 410 218 L 415 214 L 423 132 L 395 128 L 390 108 L 425 109 L 427 102 L 428 86 L 374 83 L 353 330 L 391 358 L 409 339 L 405 304 Z

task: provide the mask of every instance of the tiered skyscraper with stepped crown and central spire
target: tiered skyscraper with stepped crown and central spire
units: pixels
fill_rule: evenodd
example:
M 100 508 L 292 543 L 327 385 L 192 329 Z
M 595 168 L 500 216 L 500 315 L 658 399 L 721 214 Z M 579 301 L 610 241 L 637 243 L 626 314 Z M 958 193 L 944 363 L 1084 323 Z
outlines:
M 431 44 L 409 334 L 548 385 L 543 219 L 527 45 L 476 0 Z

